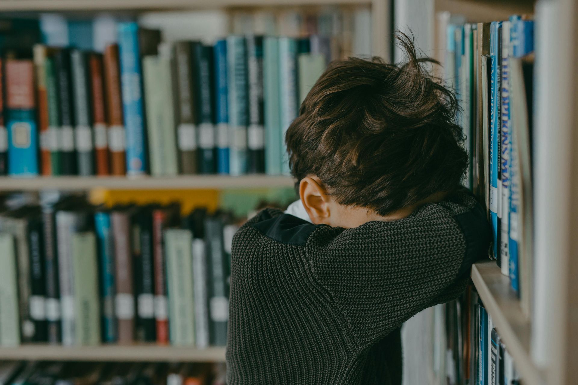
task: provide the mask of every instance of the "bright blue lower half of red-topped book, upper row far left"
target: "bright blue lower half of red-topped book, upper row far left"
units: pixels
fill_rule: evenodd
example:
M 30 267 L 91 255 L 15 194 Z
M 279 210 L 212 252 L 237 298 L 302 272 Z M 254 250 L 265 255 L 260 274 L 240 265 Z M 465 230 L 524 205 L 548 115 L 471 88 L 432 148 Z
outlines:
M 34 110 L 8 110 L 8 175 L 36 177 L 38 130 Z

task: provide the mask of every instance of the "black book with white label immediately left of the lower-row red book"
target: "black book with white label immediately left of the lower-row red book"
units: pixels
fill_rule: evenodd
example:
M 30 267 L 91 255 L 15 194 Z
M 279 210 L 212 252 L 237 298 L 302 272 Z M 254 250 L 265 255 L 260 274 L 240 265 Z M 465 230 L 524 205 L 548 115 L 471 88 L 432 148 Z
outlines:
M 152 208 L 140 208 L 131 218 L 131 228 L 136 297 L 135 337 L 138 341 L 154 342 L 156 336 Z

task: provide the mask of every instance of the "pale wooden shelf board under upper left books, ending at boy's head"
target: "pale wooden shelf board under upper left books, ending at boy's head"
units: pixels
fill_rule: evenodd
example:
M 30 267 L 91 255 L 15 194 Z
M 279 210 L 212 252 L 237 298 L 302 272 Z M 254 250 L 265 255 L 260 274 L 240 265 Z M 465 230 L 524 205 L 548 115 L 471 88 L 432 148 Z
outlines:
M 177 177 L 0 177 L 0 191 L 5 190 L 112 190 L 143 189 L 225 189 L 291 187 L 294 181 L 284 175 L 179 175 Z

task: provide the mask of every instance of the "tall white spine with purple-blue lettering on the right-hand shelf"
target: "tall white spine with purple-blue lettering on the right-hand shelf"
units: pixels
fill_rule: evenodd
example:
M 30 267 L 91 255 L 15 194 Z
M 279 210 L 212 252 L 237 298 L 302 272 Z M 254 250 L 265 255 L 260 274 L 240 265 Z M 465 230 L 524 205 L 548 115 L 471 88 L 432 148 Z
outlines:
M 502 169 L 502 223 L 501 223 L 501 243 L 500 255 L 502 259 L 501 270 L 503 275 L 509 275 L 509 251 L 508 251 L 508 233 L 509 233 L 509 211 L 510 211 L 510 151 L 509 151 L 509 133 L 510 133 L 510 94 L 509 94 L 509 55 L 510 55 L 510 22 L 502 23 L 502 126 L 501 126 L 501 169 Z

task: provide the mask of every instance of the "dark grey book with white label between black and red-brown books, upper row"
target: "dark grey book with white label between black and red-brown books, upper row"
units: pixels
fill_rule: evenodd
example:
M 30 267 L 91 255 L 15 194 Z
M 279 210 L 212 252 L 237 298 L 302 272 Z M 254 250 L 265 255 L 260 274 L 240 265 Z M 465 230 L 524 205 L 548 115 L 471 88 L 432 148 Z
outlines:
M 72 50 L 71 65 L 77 171 L 82 176 L 94 175 L 94 144 L 92 143 L 87 54 L 80 50 Z

